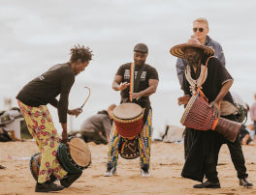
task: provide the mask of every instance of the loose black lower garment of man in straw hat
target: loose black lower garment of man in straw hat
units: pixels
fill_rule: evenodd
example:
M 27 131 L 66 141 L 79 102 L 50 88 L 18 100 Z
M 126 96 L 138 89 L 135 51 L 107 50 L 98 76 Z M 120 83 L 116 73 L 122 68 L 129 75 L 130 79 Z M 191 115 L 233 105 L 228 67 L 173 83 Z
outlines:
M 185 163 L 181 171 L 183 178 L 194 181 L 217 182 L 217 156 L 221 146 L 221 136 L 214 130 L 196 130 L 186 128 L 184 135 Z

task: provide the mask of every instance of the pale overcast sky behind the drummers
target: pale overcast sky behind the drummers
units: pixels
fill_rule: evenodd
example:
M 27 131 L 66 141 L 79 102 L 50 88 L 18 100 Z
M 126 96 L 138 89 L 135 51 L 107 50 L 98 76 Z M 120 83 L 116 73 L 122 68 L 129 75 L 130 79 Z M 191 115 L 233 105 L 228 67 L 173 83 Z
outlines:
M 11 97 L 16 105 L 24 84 L 54 64 L 67 62 L 69 49 L 84 44 L 94 51 L 94 60 L 77 77 L 70 103 L 76 107 L 84 99 L 82 86 L 92 88 L 87 112 L 75 120 L 80 126 L 87 116 L 112 101 L 118 103 L 119 94 L 111 89 L 113 75 L 133 60 L 134 45 L 144 42 L 147 63 L 160 76 L 152 97 L 154 121 L 158 126 L 179 125 L 182 109 L 176 97 L 181 92 L 176 58 L 169 50 L 188 40 L 195 18 L 206 17 L 209 36 L 224 48 L 227 69 L 235 78 L 233 89 L 250 104 L 256 91 L 255 9 L 254 0 L 1 0 L 0 100 Z

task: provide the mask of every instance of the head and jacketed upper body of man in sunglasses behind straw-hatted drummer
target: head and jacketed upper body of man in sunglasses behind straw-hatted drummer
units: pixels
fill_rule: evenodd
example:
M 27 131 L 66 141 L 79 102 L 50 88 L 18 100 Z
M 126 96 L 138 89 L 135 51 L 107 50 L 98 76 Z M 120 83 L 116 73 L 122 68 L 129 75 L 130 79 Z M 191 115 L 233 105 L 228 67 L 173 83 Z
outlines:
M 214 57 L 217 58 L 222 65 L 225 67 L 226 61 L 222 46 L 220 43 L 211 40 L 208 37 L 208 20 L 206 18 L 200 17 L 193 21 L 193 37 L 197 39 L 201 44 L 210 46 L 214 50 Z M 183 73 L 187 63 L 182 58 L 177 58 L 176 60 L 176 74 L 180 86 L 183 82 Z

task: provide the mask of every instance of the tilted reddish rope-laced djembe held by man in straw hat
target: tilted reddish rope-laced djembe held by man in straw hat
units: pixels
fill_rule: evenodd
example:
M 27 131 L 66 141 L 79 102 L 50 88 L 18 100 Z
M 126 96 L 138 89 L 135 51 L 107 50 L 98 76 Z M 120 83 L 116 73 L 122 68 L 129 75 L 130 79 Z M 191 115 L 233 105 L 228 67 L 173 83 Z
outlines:
M 213 108 L 199 94 L 191 97 L 186 105 L 180 123 L 197 130 L 216 130 L 224 137 L 234 142 L 240 131 L 240 123 L 224 118 L 213 117 Z

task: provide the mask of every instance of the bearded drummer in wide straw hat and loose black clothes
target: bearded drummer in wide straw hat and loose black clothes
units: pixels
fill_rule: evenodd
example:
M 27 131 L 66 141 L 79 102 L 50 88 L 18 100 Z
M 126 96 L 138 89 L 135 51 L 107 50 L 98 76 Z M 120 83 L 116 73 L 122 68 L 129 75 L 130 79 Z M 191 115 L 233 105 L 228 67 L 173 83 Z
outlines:
M 190 39 L 187 43 L 172 47 L 170 52 L 176 57 L 185 59 L 187 63 L 181 86 L 184 96 L 178 98 L 178 104 L 187 105 L 190 97 L 201 92 L 208 98 L 214 118 L 219 118 L 225 111 L 226 119 L 236 121 L 234 102 L 229 93 L 233 78 L 221 62 L 212 57 L 214 51 L 198 40 Z M 226 102 L 225 109 L 219 110 L 220 102 Z M 187 127 L 187 131 L 190 132 L 190 144 L 186 152 L 182 177 L 201 181 L 201 184 L 194 185 L 195 188 L 220 188 L 216 171 L 218 153 L 221 145 L 229 141 L 222 134 L 210 129 L 203 131 Z M 239 148 L 239 137 L 236 138 L 235 143 Z M 242 156 L 237 157 L 244 159 L 241 150 L 238 151 Z M 203 182 L 204 177 L 207 178 L 205 182 Z M 247 174 L 240 180 L 246 182 L 246 186 L 252 186 L 246 178 Z

